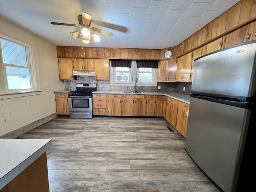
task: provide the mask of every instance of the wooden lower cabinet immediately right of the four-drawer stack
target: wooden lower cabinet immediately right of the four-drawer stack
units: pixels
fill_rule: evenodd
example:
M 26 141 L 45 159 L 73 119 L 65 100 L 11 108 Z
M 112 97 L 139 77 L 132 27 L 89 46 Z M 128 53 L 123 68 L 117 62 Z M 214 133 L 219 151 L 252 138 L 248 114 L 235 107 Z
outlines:
M 122 95 L 108 94 L 107 115 L 122 115 Z

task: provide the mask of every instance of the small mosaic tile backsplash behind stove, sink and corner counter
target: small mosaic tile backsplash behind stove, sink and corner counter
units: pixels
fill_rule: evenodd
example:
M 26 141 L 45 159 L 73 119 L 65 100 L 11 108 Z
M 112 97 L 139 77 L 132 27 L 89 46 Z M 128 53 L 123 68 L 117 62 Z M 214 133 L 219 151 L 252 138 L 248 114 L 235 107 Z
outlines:
M 65 90 L 73 91 L 76 90 L 77 83 L 96 83 L 98 91 L 133 91 L 134 86 L 125 85 L 110 85 L 110 81 L 96 81 L 92 76 L 78 76 L 77 80 L 64 80 Z M 191 82 L 158 82 L 158 87 L 151 86 L 138 86 L 137 91 L 143 92 L 176 92 L 185 95 L 190 95 Z M 185 87 L 185 91 L 183 91 Z

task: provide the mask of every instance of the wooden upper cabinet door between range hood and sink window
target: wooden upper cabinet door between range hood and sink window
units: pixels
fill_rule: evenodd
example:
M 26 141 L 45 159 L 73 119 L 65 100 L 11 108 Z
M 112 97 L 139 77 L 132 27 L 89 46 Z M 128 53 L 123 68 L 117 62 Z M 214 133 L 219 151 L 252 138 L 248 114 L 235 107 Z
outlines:
M 95 80 L 109 80 L 108 59 L 94 59 Z

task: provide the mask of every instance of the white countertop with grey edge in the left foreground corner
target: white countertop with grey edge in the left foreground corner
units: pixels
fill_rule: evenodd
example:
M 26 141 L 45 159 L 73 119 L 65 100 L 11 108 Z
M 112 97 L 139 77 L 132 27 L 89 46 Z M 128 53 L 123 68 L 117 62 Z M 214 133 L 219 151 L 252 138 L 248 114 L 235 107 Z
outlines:
M 50 139 L 0 139 L 0 189 L 51 146 Z

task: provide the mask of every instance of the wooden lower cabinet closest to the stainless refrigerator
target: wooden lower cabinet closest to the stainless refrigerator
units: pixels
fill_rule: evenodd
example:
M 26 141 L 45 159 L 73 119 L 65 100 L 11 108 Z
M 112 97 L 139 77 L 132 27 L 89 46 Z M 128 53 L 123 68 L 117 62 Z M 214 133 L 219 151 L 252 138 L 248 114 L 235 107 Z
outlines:
M 177 111 L 176 130 L 186 138 L 187 125 L 188 125 L 188 110 L 189 104 L 179 102 Z

